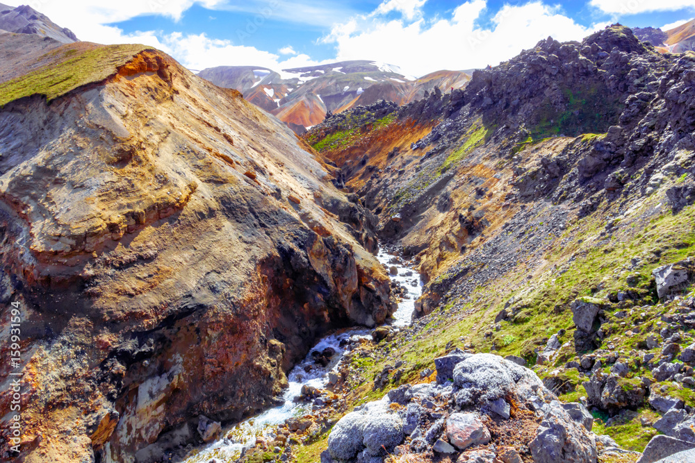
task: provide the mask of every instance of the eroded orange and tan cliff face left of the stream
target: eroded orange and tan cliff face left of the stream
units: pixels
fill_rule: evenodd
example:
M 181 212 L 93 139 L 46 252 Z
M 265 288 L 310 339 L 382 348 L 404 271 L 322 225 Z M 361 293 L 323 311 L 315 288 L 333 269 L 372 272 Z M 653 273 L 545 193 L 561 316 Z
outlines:
M 22 310 L 20 460 L 159 461 L 200 440 L 199 414 L 272 404 L 327 329 L 382 323 L 389 280 L 362 247 L 376 247 L 373 218 L 327 168 L 238 92 L 152 50 L 49 104 L 4 106 L 0 293 Z

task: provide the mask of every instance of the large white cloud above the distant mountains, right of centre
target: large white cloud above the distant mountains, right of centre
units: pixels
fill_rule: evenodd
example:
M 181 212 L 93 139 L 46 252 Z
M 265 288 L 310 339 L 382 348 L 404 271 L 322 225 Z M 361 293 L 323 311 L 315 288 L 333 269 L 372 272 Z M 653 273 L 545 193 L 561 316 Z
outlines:
M 486 0 L 458 6 L 450 19 L 407 23 L 354 17 L 335 26 L 322 42 L 336 45 L 337 59 L 391 62 L 406 74 L 423 76 L 439 69 L 471 69 L 496 65 L 533 47 L 548 35 L 559 41 L 581 40 L 605 24 L 585 28 L 540 1 L 505 5 L 490 28 L 475 26 Z

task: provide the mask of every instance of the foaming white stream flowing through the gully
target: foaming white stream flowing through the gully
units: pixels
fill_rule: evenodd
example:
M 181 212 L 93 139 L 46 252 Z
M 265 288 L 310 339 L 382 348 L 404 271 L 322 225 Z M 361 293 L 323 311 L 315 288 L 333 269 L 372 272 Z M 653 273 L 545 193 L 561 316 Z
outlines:
M 411 322 L 413 310 L 415 310 L 415 301 L 422 294 L 422 281 L 420 274 L 414 269 L 404 267 L 402 260 L 395 256 L 379 251 L 377 255 L 379 262 L 384 264 L 386 271 L 389 272 L 391 267 L 396 267 L 398 273 L 393 275 L 389 272 L 391 281 L 398 283 L 404 287 L 404 292 L 400 294 L 402 297 L 398 303 L 398 310 L 393 314 L 393 319 L 389 321 L 389 325 L 395 327 L 408 326 Z M 322 338 L 316 346 L 311 348 L 311 351 L 306 355 L 304 360 L 290 371 L 288 375 L 289 386 L 283 395 L 284 404 L 277 407 L 265 410 L 265 412 L 246 419 L 236 426 L 225 428 L 222 435 L 225 437 L 215 441 L 208 446 L 202 448 L 195 455 L 191 455 L 183 463 L 208 463 L 211 460 L 217 461 L 236 460 L 244 447 L 253 446 L 258 437 L 264 437 L 272 440 L 275 436 L 275 426 L 293 416 L 302 416 L 306 412 L 311 411 L 311 402 L 295 402 L 295 398 L 302 395 L 302 386 L 308 385 L 317 389 L 324 389 L 328 385 L 328 373 L 337 371 L 343 355 L 347 352 L 350 346 L 350 340 L 371 339 L 372 330 L 365 328 L 352 328 L 343 332 L 334 333 Z M 315 362 L 313 352 L 321 352 L 325 348 L 332 348 L 335 354 L 331 358 L 331 362 L 322 367 Z

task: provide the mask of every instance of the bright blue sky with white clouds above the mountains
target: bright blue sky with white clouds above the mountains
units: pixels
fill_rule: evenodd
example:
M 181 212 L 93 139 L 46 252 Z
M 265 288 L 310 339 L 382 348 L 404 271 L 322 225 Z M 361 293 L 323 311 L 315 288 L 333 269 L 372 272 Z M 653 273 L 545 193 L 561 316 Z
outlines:
M 4 0 L 13 4 L 12 1 Z M 619 21 L 660 27 L 695 17 L 695 0 L 40 0 L 82 40 L 143 42 L 191 69 L 279 69 L 370 59 L 419 76 L 497 64 L 541 38 L 581 40 Z

